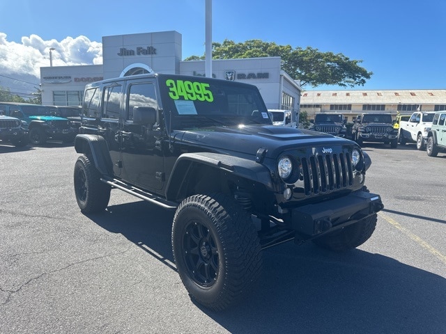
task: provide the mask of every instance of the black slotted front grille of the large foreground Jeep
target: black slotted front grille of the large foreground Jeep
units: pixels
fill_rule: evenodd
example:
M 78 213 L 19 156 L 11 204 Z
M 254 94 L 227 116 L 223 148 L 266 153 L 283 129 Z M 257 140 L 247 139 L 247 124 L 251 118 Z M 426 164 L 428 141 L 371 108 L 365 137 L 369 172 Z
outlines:
M 317 154 L 300 161 L 307 196 L 353 185 L 353 166 L 348 153 Z

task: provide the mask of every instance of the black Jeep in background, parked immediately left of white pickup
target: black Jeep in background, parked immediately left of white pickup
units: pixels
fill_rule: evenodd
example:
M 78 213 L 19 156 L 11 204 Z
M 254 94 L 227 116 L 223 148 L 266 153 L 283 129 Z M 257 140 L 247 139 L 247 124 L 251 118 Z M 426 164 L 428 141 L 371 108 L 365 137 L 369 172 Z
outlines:
M 398 145 L 398 130 L 393 127 L 390 113 L 362 113 L 357 116 L 351 129 L 353 140 L 362 145 L 364 141 Z

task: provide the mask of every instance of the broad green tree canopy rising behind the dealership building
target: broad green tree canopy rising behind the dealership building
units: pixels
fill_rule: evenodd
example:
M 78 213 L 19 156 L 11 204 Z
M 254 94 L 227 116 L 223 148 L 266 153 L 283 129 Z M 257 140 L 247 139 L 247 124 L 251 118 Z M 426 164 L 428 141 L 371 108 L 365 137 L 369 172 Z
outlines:
M 307 47 L 277 45 L 275 42 L 247 40 L 223 43 L 213 42 L 213 59 L 259 58 L 279 56 L 282 58 L 282 70 L 293 79 L 300 80 L 300 86 L 317 87 L 323 84 L 341 87 L 364 86 L 373 72 L 368 72 L 359 64 L 362 61 L 351 60 L 344 54 L 321 52 Z M 190 56 L 185 61 L 203 60 L 205 56 Z

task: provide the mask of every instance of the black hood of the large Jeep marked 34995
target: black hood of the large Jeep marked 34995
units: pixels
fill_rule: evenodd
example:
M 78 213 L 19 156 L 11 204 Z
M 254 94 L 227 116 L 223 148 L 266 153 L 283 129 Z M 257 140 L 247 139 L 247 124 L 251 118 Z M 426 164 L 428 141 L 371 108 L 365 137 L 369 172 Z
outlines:
M 318 145 L 352 143 L 330 134 L 292 127 L 272 125 L 244 127 L 206 127 L 177 132 L 175 141 L 208 147 L 211 151 L 239 152 L 255 155 L 259 148 L 267 149 L 267 157 L 275 158 L 284 150 Z

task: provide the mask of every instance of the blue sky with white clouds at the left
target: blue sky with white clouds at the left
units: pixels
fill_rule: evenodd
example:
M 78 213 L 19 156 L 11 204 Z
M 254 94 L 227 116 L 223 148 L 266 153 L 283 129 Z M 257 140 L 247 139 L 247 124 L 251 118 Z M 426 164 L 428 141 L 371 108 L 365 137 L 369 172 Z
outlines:
M 205 0 L 1 0 L 0 86 L 31 93 L 40 67 L 102 64 L 102 36 L 178 31 L 183 59 L 205 52 Z M 343 54 L 364 86 L 446 89 L 446 1 L 213 0 L 212 40 L 263 40 Z

